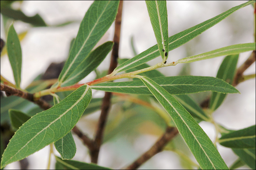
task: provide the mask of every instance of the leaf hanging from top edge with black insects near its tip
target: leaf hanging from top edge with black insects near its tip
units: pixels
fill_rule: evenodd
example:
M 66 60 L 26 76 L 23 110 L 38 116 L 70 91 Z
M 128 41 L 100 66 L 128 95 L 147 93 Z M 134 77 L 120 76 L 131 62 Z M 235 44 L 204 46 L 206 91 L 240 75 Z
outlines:
M 168 18 L 166 1 L 145 1 L 148 15 L 150 16 L 157 46 L 162 56 L 163 62 L 168 57 Z

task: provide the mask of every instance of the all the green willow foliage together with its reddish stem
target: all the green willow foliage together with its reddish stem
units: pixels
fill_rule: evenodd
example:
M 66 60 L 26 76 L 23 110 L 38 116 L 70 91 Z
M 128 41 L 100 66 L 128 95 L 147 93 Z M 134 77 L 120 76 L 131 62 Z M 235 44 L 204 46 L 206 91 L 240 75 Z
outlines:
M 70 160 L 76 152 L 74 139 L 70 131 L 82 116 L 93 113 L 100 108 L 101 99 L 92 98 L 91 89 L 96 89 L 117 94 L 127 94 L 127 96 L 135 94 L 139 100 L 144 100 L 145 95 L 147 95 L 146 98 L 153 99 L 145 99 L 147 102 L 162 105 L 161 113 L 157 109 L 153 109 L 154 114 L 159 114 L 160 118 L 166 123 L 165 126 L 175 126 L 179 130 L 180 135 L 201 169 L 228 169 L 216 146 L 198 123 L 201 121 L 214 122 L 211 114 L 222 104 L 226 94 L 239 93 L 231 85 L 236 73 L 239 53 L 255 50 L 255 43 L 230 45 L 202 54 L 188 56 L 171 63 L 167 62 L 167 58 L 169 57 L 169 60 L 171 58 L 169 51 L 184 45 L 189 40 L 224 20 L 233 12 L 253 4 L 255 1 L 248 1 L 232 7 L 222 14 L 170 37 L 168 34 L 166 3 L 166 1 L 146 1 L 155 34 L 152 36 L 156 37 L 156 45 L 131 59 L 120 60 L 119 65 L 111 74 L 77 86 L 77 83 L 99 66 L 113 47 L 113 42 L 108 41 L 93 49 L 114 22 L 119 1 L 93 2 L 80 24 L 79 31 L 58 81 L 50 89 L 42 90 L 45 87 L 39 87 L 39 85 L 26 89 L 34 94 L 34 98 L 54 94 L 55 105 L 31 117 L 28 113 L 24 113 L 24 109 L 19 109 L 20 105 L 26 106 L 28 104 L 27 101 L 18 101 L 19 99 L 16 97 L 11 101 L 7 101 L 11 97 L 1 99 L 1 123 L 9 122 L 17 130 L 8 146 L 6 148 L 3 146 L 5 150 L 1 159 L 1 168 L 12 162 L 24 159 L 45 146 L 54 143 L 55 148 L 61 155 L 61 158 L 55 157 L 57 160 L 56 167 L 58 168 L 107 169 Z M 6 16 L 4 9 L 3 7 L 2 10 L 1 4 L 1 13 Z M 36 17 L 41 18 L 39 15 Z M 15 17 L 13 18 L 15 19 Z M 27 19 L 29 20 L 31 17 Z M 32 20 L 25 22 L 33 24 Z M 42 23 L 43 25 L 40 25 L 40 23 L 34 23 L 34 25 L 45 26 L 43 21 Z M 13 25 L 10 26 L 7 33 L 6 49 L 13 70 L 15 87 L 20 89 L 22 51 Z M 192 75 L 166 77 L 156 70 L 161 67 L 191 63 L 224 55 L 226 57 L 219 68 L 216 78 Z M 156 63 L 154 66 L 146 64 L 146 62 L 160 56 L 161 62 Z M 112 81 L 122 78 L 129 78 L 130 81 Z M 1 78 L 2 82 L 4 80 Z M 72 92 L 66 96 L 65 93 L 60 93 L 60 91 L 70 90 Z M 212 91 L 208 110 L 203 110 L 187 95 L 202 91 Z M 57 94 L 55 94 L 56 92 Z M 57 96 L 60 94 L 64 95 L 64 99 L 61 100 Z M 18 105 L 9 109 L 9 119 L 4 117 L 7 111 L 2 112 L 2 109 L 12 102 L 17 102 Z M 118 100 L 113 99 L 113 102 L 118 102 Z M 155 104 L 153 104 L 153 107 L 155 107 Z M 122 123 L 120 121 L 119 124 Z M 252 169 L 255 169 L 255 125 L 238 131 L 224 129 L 217 123 L 215 125 L 218 127 L 218 133 L 222 133 L 222 137 L 217 141 L 225 147 L 232 148 L 234 153 L 240 157 L 238 162 L 241 161 L 241 165 L 247 164 Z M 122 126 L 119 129 L 122 129 Z M 1 145 L 3 144 L 1 143 Z

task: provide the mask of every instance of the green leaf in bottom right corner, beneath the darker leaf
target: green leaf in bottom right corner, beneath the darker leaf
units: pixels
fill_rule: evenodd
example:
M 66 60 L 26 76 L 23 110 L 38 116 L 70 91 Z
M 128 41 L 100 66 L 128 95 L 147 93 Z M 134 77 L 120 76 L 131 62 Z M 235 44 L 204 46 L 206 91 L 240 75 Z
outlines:
M 243 162 L 252 169 L 256 169 L 255 149 L 232 149 Z

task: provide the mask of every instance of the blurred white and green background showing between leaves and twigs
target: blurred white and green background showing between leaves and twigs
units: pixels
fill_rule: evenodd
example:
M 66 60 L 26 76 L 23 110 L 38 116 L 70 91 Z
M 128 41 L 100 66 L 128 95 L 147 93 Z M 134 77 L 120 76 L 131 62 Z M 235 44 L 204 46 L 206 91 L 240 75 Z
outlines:
M 167 1 L 169 36 L 184 31 L 205 20 L 219 15 L 231 7 L 240 5 L 246 1 Z M 18 34 L 24 33 L 21 41 L 23 63 L 21 87 L 26 88 L 35 77 L 44 73 L 52 62 L 66 60 L 69 52 L 70 42 L 76 37 L 80 22 L 87 9 L 93 1 L 17 1 L 13 8 L 20 8 L 27 16 L 39 14 L 49 27 L 32 27 L 22 21 L 15 21 L 14 28 Z M 167 63 L 179 60 L 191 55 L 208 52 L 218 48 L 234 44 L 252 43 L 254 9 L 251 5 L 246 6 L 221 21 L 214 27 L 205 31 L 185 45 L 169 52 Z M 69 22 L 64 26 L 59 24 Z M 6 32 L 10 23 L 6 23 L 1 15 L 1 38 L 6 41 Z M 8 26 L 7 28 L 4 26 Z M 112 40 L 114 35 L 114 24 L 106 32 L 98 45 Z M 148 17 L 144 1 L 124 1 L 122 26 L 120 35 L 119 57 L 131 58 L 134 56 L 131 48 L 133 37 L 134 47 L 137 53 L 141 53 L 156 44 L 154 32 Z M 251 54 L 245 52 L 240 54 L 238 66 L 240 66 Z M 187 65 L 188 73 L 196 76 L 216 77 L 218 67 L 224 57 L 199 61 Z M 154 65 L 161 61 L 161 57 L 148 62 Z M 99 71 L 108 70 L 110 55 L 99 66 Z M 178 75 L 184 68 L 183 64 L 175 67 L 158 69 L 165 75 Z M 255 73 L 255 63 L 245 71 L 245 75 Z M 11 66 L 7 55 L 1 55 L 1 75 L 14 83 Z M 96 73 L 90 73 L 81 83 L 94 80 Z M 243 129 L 255 124 L 255 79 L 240 83 L 236 87 L 241 94 L 227 95 L 224 103 L 214 112 L 214 120 L 224 125 L 227 129 Z M 210 93 L 203 92 L 194 94 L 192 97 L 200 103 Z M 103 97 L 101 91 L 94 91 L 93 97 Z M 109 115 L 104 143 L 99 155 L 99 165 L 120 169 L 129 165 L 133 160 L 147 151 L 153 143 L 165 131 L 162 120 L 150 109 L 133 105 L 124 101 L 115 104 Z M 150 116 L 149 116 L 150 115 Z M 99 111 L 84 116 L 78 123 L 78 127 L 84 133 L 93 137 Z M 126 121 L 120 121 L 125 119 Z M 211 123 L 200 122 L 199 125 L 208 134 L 211 140 L 215 140 L 215 129 Z M 121 130 L 120 130 L 121 127 Z M 123 129 L 122 129 L 123 128 Z M 119 130 L 118 130 L 119 129 Z M 74 135 L 77 146 L 75 160 L 89 162 L 86 147 L 80 139 Z M 182 139 L 177 136 L 168 145 L 167 149 L 143 164 L 140 169 L 187 169 L 193 168 L 186 165 L 186 161 L 176 152 L 172 152 L 175 143 L 181 143 Z M 183 143 L 184 144 L 184 143 Z M 187 154 L 192 161 L 196 162 L 188 148 L 184 145 L 177 148 Z M 228 166 L 232 165 L 237 156 L 231 149 L 217 145 L 217 148 Z M 28 157 L 29 169 L 44 169 L 47 165 L 49 147 L 30 155 Z M 56 151 L 56 154 L 57 151 Z M 53 160 L 54 161 L 54 160 Z M 18 163 L 12 163 L 5 169 L 18 169 Z M 52 169 L 54 164 L 52 164 Z M 195 168 L 195 167 L 194 167 Z M 246 169 L 242 167 L 241 169 Z

